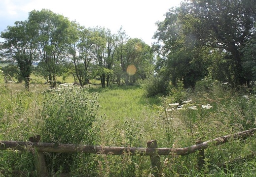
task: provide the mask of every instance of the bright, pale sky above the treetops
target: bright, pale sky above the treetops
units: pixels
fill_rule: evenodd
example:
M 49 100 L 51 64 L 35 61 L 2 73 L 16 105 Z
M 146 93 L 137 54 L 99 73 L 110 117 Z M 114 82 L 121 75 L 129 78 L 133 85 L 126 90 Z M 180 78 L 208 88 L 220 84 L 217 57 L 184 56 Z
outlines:
M 105 27 L 117 33 L 122 27 L 131 38 L 154 41 L 155 23 L 182 0 L 0 0 L 0 32 L 28 19 L 32 10 L 49 9 L 85 28 Z M 0 41 L 3 41 L 0 38 Z

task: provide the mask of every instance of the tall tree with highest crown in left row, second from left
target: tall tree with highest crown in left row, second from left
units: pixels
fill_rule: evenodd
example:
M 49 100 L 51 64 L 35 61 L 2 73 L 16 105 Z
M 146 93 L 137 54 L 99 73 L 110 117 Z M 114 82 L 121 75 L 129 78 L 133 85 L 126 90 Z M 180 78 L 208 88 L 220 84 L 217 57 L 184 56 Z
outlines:
M 38 53 L 44 63 L 42 68 L 48 73 L 47 80 L 53 80 L 53 87 L 56 87 L 61 64 L 66 60 L 67 45 L 74 40 L 71 22 L 63 15 L 46 9 L 30 12 L 29 22 L 37 24 Z

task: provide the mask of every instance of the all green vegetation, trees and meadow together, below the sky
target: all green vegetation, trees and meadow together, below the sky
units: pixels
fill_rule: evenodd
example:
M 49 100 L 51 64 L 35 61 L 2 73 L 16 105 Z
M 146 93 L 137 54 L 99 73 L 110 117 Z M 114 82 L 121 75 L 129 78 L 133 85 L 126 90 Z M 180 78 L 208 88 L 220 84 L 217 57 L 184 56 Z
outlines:
M 0 140 L 39 134 L 55 144 L 146 147 L 154 139 L 161 148 L 183 148 L 254 128 L 255 7 L 254 0 L 185 0 L 157 22 L 152 47 L 122 28 L 87 29 L 33 10 L 0 35 L 0 58 L 14 64 L 0 68 Z M 14 80 L 24 80 L 26 90 Z M 57 81 L 84 87 L 61 89 Z M 196 154 L 171 153 L 161 157 L 159 176 L 254 177 L 255 152 L 255 136 L 211 146 L 203 169 Z M 0 172 L 39 176 L 36 155 L 33 148 L 2 150 Z M 147 156 L 45 157 L 52 177 L 153 177 Z

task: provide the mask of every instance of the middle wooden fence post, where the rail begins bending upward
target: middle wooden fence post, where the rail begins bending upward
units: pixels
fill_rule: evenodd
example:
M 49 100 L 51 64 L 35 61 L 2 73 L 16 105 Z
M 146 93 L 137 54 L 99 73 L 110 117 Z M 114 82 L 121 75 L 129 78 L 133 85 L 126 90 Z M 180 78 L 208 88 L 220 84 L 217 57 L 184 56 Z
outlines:
M 146 143 L 147 148 L 157 148 L 157 142 L 156 140 L 151 140 Z M 152 155 L 150 155 L 150 161 L 151 161 L 151 168 L 153 170 L 153 175 L 155 177 L 159 176 L 161 172 L 161 161 L 160 156 L 157 154 L 157 151 L 155 151 Z

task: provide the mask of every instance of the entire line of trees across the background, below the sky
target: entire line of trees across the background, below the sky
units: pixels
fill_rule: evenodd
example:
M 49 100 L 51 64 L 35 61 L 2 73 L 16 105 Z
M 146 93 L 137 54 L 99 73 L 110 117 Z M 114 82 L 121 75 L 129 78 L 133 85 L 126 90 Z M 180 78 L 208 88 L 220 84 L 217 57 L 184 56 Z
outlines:
M 1 51 L 17 62 L 27 88 L 37 60 L 36 73 L 54 80 L 55 86 L 57 76 L 73 74 L 81 86 L 98 77 L 103 88 L 113 81 L 131 84 L 154 76 L 147 86 L 152 95 L 168 90 L 170 82 L 193 88 L 205 77 L 236 88 L 256 80 L 254 2 L 185 0 L 156 23 L 153 38 L 158 42 L 151 47 L 122 29 L 112 34 L 49 10 L 34 10 L 28 20 L 1 32 Z M 135 75 L 126 72 L 129 65 L 135 66 Z

